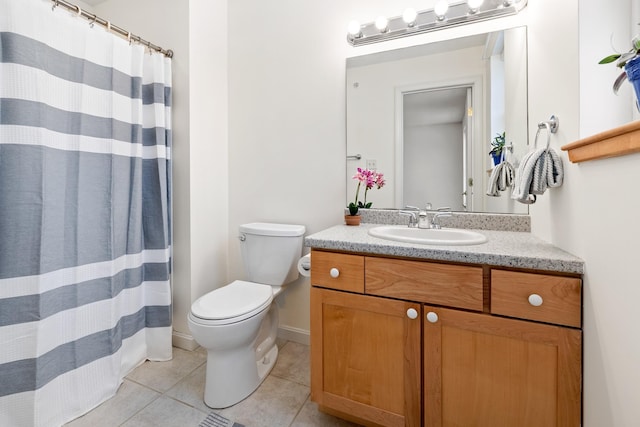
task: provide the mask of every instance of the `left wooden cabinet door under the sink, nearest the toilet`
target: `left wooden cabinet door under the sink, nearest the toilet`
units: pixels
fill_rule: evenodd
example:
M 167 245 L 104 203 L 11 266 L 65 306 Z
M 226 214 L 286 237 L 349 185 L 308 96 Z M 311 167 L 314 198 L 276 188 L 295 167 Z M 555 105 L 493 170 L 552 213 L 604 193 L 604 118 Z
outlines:
M 311 400 L 368 425 L 419 426 L 420 318 L 417 303 L 313 287 Z

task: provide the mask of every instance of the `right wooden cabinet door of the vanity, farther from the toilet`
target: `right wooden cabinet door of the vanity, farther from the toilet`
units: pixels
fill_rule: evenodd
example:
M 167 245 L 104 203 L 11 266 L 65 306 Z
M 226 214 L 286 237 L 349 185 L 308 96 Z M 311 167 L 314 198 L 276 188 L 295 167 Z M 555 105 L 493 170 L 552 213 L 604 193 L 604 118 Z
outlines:
M 424 425 L 578 427 L 578 329 L 424 307 Z

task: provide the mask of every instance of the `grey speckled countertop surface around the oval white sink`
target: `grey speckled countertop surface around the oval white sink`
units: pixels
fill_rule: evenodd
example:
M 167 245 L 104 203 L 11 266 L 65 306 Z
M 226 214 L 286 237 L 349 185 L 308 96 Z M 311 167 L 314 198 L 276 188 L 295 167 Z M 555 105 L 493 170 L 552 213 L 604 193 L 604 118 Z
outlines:
M 372 237 L 368 231 L 380 224 L 363 223 L 353 227 L 337 225 L 311 234 L 305 245 L 315 249 L 331 249 L 365 254 L 392 255 L 439 261 L 488 264 L 564 273 L 584 272 L 584 262 L 570 253 L 528 232 L 474 230 L 488 241 L 470 246 L 436 246 L 394 242 Z

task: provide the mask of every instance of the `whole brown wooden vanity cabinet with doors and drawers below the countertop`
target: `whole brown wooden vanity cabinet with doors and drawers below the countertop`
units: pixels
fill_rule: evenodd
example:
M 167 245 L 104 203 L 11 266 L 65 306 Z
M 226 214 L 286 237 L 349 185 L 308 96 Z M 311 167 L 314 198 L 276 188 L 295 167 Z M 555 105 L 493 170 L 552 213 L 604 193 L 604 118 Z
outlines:
M 373 426 L 580 425 L 577 275 L 311 257 L 311 399 L 323 411 Z

